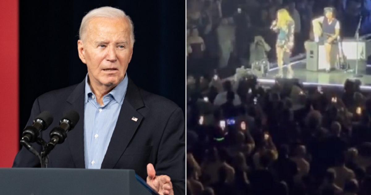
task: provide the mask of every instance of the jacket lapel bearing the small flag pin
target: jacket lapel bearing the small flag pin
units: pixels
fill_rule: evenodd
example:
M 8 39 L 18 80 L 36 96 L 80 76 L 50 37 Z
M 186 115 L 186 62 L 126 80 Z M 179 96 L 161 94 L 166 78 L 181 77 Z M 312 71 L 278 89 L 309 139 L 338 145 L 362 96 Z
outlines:
M 128 89 L 122 103 L 115 130 L 109 142 L 106 155 L 102 162 L 102 169 L 112 169 L 125 152 L 130 140 L 134 136 L 143 116 L 137 111 L 144 103 L 138 88 L 129 78 Z M 137 120 L 135 121 L 135 118 Z

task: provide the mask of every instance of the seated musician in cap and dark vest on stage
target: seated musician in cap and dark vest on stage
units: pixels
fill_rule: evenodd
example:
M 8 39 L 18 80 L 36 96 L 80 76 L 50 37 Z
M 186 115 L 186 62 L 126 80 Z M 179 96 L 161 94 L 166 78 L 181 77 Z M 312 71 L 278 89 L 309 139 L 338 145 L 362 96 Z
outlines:
M 312 20 L 312 23 L 315 41 L 324 41 L 326 52 L 326 72 L 330 72 L 335 68 L 336 56 L 338 55 L 340 23 L 334 16 L 334 8 L 326 7 L 324 11 L 325 16 Z

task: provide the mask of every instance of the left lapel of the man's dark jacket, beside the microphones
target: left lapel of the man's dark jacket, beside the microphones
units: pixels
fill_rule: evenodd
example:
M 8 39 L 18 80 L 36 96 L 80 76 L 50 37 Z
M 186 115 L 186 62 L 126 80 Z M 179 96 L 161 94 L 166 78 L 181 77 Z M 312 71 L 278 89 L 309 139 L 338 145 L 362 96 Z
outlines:
M 80 120 L 75 128 L 68 132 L 67 141 L 72 154 L 75 168 L 85 168 L 84 155 L 84 105 L 85 105 L 85 79 L 78 84 L 67 99 L 71 104 L 71 110 L 79 113 Z

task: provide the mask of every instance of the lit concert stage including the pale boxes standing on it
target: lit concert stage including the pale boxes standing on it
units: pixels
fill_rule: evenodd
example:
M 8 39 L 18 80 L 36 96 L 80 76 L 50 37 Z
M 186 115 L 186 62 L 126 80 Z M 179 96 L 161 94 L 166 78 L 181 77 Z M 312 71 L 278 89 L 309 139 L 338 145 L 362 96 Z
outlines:
M 303 85 L 343 87 L 346 79 L 359 79 L 363 90 L 371 90 L 371 65 L 367 65 L 371 64 L 370 61 L 367 63 L 371 55 L 371 34 L 362 36 L 358 41 L 352 38 L 345 38 L 339 44 L 339 50 L 344 53 L 344 56 L 347 56 L 347 62 L 354 69 L 353 72 L 335 70 L 326 73 L 324 71 L 324 46 L 315 42 L 308 42 L 307 46 L 306 53 L 290 58 L 294 71 L 293 78 L 298 78 Z M 355 78 L 357 61 L 358 75 L 362 75 L 361 78 Z M 286 67 L 283 72 L 287 72 Z M 268 75 L 260 77 L 259 81 L 261 83 L 274 83 L 277 73 L 277 63 L 271 63 Z

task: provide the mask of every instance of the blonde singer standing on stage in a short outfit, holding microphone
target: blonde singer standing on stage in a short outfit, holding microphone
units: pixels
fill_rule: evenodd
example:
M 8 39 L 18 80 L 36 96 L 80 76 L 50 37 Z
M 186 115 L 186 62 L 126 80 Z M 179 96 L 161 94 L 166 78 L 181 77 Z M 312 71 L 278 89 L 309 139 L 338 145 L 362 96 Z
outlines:
M 283 77 L 283 64 L 286 64 L 287 78 L 292 78 L 293 71 L 289 59 L 294 46 L 295 22 L 286 9 L 280 9 L 277 11 L 277 19 L 273 21 L 270 29 L 278 33 L 276 42 L 277 77 Z

